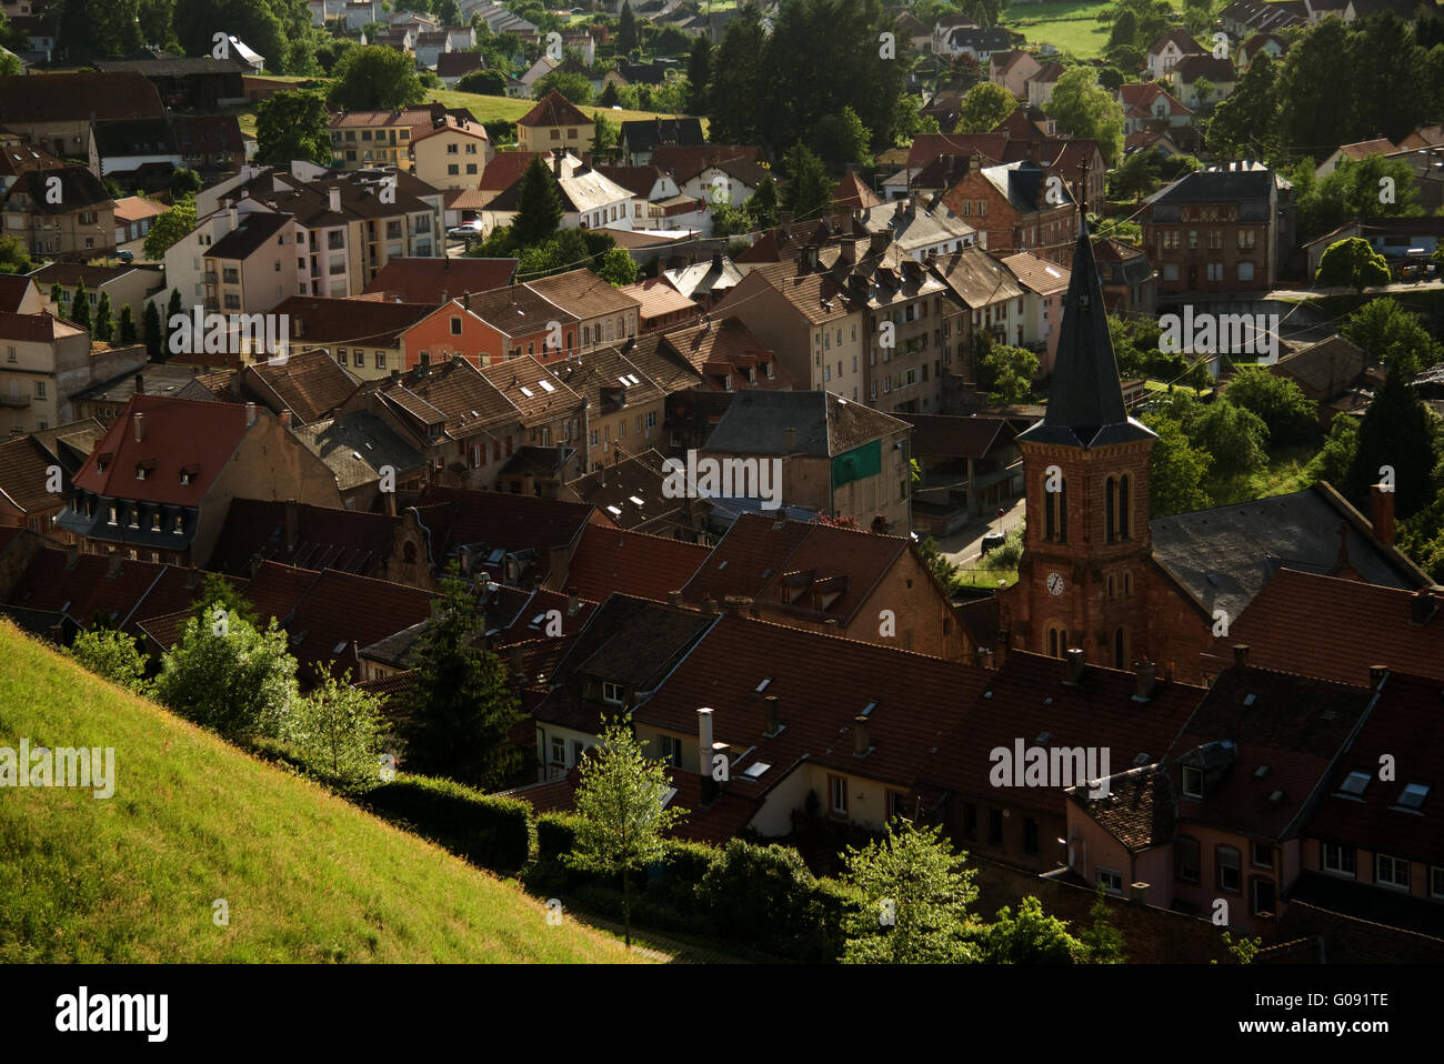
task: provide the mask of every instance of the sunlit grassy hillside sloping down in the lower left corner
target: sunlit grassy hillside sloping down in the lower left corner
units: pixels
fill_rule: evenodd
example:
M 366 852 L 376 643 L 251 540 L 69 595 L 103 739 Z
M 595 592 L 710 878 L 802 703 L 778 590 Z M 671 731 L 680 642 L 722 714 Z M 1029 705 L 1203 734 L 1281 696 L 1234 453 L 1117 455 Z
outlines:
M 0 621 L 0 746 L 113 746 L 116 793 L 0 790 L 0 963 L 622 961 L 513 884 Z M 224 898 L 230 924 L 217 927 Z

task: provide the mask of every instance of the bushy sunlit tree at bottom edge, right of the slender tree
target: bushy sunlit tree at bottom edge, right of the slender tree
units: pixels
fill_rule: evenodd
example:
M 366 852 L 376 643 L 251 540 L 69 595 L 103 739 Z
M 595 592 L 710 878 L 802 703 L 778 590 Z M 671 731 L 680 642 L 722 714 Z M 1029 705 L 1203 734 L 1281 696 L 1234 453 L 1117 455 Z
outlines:
M 978 960 L 967 905 L 975 869 L 941 837 L 894 817 L 882 839 L 843 853 L 842 881 L 861 908 L 845 921 L 849 964 L 956 964 Z

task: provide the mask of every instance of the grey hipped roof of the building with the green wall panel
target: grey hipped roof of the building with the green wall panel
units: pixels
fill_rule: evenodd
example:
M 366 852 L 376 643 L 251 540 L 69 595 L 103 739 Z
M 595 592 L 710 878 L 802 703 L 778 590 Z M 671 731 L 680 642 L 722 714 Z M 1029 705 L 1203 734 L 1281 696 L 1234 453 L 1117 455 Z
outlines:
M 797 432 L 793 448 L 787 445 L 788 429 Z M 907 429 L 907 422 L 832 391 L 744 388 L 712 432 L 706 450 L 836 458 L 900 429 Z

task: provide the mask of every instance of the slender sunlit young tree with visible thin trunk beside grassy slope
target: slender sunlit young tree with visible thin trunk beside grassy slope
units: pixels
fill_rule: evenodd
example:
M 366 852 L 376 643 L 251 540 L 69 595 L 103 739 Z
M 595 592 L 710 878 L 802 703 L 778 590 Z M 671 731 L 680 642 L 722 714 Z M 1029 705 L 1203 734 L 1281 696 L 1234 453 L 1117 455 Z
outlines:
M 576 785 L 576 842 L 566 856 L 572 868 L 619 875 L 622 924 L 631 949 L 631 873 L 663 855 L 663 833 L 687 810 L 664 808 L 667 768 L 643 754 L 622 720 L 604 722 L 601 741 L 580 764 Z

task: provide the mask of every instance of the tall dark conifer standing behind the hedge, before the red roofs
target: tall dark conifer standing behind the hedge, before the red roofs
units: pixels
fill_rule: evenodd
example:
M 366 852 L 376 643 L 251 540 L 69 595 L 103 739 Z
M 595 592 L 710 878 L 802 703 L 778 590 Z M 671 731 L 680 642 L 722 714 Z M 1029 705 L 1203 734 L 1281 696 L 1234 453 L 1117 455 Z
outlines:
M 517 697 L 505 666 L 475 645 L 481 612 L 455 567 L 442 577 L 435 606 L 439 615 L 413 655 L 416 681 L 404 729 L 407 768 L 500 788 L 521 762 L 510 739 L 521 719 Z

